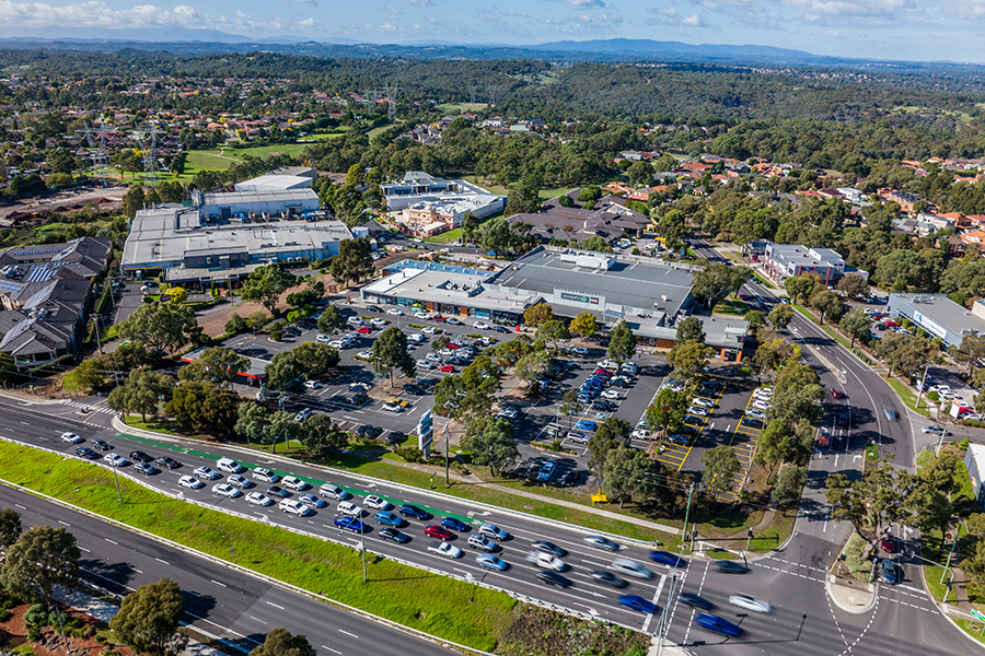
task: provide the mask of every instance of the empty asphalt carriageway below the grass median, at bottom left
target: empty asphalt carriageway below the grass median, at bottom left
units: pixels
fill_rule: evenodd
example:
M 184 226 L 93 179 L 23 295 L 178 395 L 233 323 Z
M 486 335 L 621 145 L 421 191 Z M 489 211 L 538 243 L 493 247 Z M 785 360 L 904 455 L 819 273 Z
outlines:
M 117 595 L 161 578 L 185 597 L 185 620 L 246 652 L 283 626 L 308 636 L 318 654 L 457 654 L 430 641 L 347 612 L 237 570 L 174 549 L 140 534 L 0 485 L 0 503 L 21 514 L 24 528 L 63 527 L 82 549 L 82 576 Z

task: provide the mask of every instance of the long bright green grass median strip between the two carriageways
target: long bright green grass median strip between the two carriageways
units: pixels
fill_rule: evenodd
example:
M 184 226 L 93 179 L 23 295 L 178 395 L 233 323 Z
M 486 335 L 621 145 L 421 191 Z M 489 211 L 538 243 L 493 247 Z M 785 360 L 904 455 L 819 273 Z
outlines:
M 170 499 L 71 457 L 0 443 L 0 477 L 438 637 L 491 651 L 515 621 L 502 593 Z M 323 513 L 323 516 L 327 516 Z

